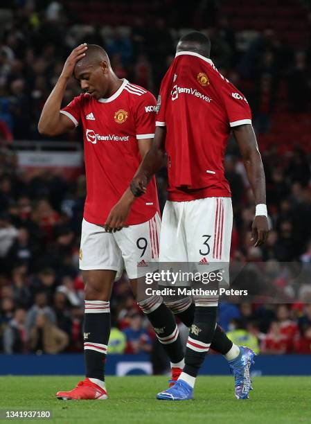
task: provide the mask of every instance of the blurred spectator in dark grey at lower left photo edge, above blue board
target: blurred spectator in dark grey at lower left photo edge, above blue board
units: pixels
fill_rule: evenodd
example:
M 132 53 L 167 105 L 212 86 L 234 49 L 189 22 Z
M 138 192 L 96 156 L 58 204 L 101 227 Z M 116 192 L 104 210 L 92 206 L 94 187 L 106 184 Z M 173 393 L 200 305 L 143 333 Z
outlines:
M 14 318 L 8 323 L 3 332 L 3 351 L 4 353 L 26 353 L 26 310 L 15 310 Z

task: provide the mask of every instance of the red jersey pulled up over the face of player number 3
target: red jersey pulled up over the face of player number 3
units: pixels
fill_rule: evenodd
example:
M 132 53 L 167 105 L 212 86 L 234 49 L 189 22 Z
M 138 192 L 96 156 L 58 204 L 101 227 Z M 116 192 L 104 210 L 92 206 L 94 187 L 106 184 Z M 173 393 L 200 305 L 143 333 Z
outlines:
M 245 96 L 210 59 L 183 51 L 163 78 L 157 109 L 156 125 L 167 131 L 169 200 L 230 197 L 224 152 L 231 127 L 251 124 Z

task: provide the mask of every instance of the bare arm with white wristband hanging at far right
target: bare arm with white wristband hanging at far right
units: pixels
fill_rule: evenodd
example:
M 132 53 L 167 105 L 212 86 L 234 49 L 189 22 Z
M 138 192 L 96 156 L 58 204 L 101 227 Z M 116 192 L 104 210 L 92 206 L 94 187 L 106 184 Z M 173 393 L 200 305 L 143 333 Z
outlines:
M 247 171 L 249 184 L 254 193 L 257 204 L 266 203 L 265 173 L 261 160 L 256 135 L 252 125 L 238 125 L 233 127 L 233 134 L 238 142 L 242 159 Z M 265 243 L 269 233 L 269 224 L 265 215 L 256 215 L 252 225 L 252 241 L 255 246 Z

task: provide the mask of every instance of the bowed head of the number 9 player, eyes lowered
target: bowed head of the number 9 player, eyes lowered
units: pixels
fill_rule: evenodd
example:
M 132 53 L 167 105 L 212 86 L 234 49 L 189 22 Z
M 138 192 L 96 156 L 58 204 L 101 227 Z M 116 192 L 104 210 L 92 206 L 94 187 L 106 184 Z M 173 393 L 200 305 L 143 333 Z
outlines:
M 96 44 L 87 44 L 73 74 L 81 88 L 96 99 L 109 97 L 122 83 L 112 70 L 107 52 Z

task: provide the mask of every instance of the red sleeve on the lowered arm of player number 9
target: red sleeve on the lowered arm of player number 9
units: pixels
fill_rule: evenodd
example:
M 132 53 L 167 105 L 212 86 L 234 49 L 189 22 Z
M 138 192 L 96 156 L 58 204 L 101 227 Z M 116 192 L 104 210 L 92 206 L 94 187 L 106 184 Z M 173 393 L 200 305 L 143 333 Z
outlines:
M 157 102 L 152 94 L 147 91 L 139 98 L 135 105 L 135 130 L 136 139 L 152 139 L 155 128 L 155 112 Z

